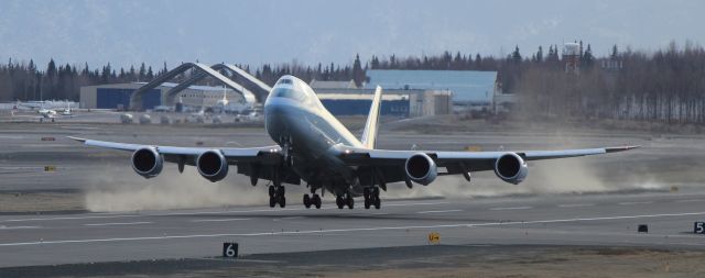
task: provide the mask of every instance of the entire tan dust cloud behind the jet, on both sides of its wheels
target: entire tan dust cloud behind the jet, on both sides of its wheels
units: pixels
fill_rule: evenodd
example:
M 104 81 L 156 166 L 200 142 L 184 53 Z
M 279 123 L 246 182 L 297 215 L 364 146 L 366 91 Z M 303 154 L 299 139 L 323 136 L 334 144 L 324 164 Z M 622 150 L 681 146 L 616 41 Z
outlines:
M 571 137 L 558 138 L 558 142 L 567 143 L 551 148 L 588 145 L 585 142 L 574 144 Z M 594 144 L 589 143 L 589 145 Z M 550 145 L 553 144 L 550 143 Z M 414 185 L 412 190 L 409 190 L 403 182 L 390 184 L 389 191 L 382 194 L 387 199 L 427 197 L 452 199 L 666 190 L 669 188 L 658 182 L 655 177 L 644 175 L 641 170 L 630 171 L 625 167 L 628 164 L 622 165 L 622 163 L 623 159 L 631 158 L 626 158 L 622 154 L 530 162 L 529 176 L 520 185 L 503 182 L 495 176 L 494 171 L 482 171 L 473 173 L 471 182 L 467 182 L 460 176 L 438 177 L 430 186 Z M 172 164 L 166 164 L 159 177 L 147 180 L 126 165 L 106 169 L 101 175 L 91 175 L 95 186 L 86 190 L 85 197 L 86 207 L 90 211 L 262 205 L 268 202 L 264 186 L 267 181 L 260 180 L 259 186 L 251 187 L 249 179 L 237 175 L 235 167 L 230 169 L 228 177 L 219 182 L 205 180 L 194 167 L 186 167 L 180 175 L 176 166 Z M 300 197 L 306 191 L 304 189 L 303 186 L 288 186 L 288 202 L 300 204 Z M 325 201 L 330 200 L 330 194 L 326 194 Z

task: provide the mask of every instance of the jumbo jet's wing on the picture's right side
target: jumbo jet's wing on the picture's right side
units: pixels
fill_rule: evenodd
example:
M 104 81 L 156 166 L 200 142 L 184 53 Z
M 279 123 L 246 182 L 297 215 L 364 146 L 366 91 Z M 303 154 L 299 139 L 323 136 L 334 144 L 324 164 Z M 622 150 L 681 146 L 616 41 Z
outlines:
M 434 151 L 388 151 L 366 149 L 338 145 L 336 151 L 343 162 L 350 166 L 376 168 L 386 182 L 404 181 L 404 164 L 417 154 L 431 157 L 437 167 L 445 168 L 438 175 L 467 175 L 473 171 L 494 170 L 497 160 L 508 154 L 516 154 L 524 162 L 601 155 L 623 152 L 639 146 L 619 146 L 600 148 L 579 148 L 562 151 L 520 151 L 520 152 L 434 152 Z M 466 176 L 469 179 L 469 176 Z

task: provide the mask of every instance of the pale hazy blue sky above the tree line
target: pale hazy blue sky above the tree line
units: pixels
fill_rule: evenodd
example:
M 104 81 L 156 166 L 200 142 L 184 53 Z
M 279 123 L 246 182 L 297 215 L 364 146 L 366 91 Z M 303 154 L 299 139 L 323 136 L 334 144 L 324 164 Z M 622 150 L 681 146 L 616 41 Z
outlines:
M 702 0 L 0 0 L 0 59 L 351 64 L 444 51 L 505 56 L 582 40 L 597 56 L 705 43 Z

